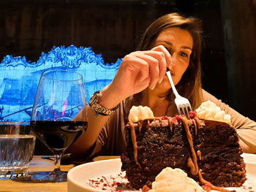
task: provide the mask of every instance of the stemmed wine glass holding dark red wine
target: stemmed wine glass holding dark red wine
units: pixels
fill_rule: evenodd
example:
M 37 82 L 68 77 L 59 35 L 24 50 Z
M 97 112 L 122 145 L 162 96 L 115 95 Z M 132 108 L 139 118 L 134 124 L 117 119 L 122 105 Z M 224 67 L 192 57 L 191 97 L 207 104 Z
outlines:
M 31 113 L 32 131 L 54 154 L 53 172 L 39 172 L 32 180 L 67 181 L 61 155 L 83 133 L 86 121 L 74 118 L 86 104 L 83 77 L 74 71 L 53 69 L 42 73 Z

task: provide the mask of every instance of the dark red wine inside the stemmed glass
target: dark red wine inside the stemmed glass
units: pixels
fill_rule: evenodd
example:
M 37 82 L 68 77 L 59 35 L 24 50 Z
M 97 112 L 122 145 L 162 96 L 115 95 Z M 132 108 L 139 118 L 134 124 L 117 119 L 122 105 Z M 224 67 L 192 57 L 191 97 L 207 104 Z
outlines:
M 81 121 L 31 121 L 34 134 L 50 150 L 64 150 L 75 142 L 87 128 Z

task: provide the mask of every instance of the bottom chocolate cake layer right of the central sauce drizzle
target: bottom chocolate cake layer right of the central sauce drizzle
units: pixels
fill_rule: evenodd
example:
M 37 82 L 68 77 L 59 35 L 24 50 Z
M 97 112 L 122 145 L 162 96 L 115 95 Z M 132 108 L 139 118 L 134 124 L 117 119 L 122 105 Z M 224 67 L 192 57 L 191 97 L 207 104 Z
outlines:
M 202 176 L 213 185 L 238 187 L 246 180 L 244 160 L 239 147 L 200 147 L 198 166 Z

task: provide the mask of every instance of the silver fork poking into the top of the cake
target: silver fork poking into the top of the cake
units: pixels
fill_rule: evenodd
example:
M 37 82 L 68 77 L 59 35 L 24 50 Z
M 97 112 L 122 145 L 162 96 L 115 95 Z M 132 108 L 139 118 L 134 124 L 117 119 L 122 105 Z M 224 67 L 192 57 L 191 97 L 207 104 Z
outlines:
M 173 84 L 173 79 L 170 75 L 170 71 L 166 72 L 166 74 L 167 74 L 167 77 L 170 81 L 170 85 L 172 86 L 173 93 L 176 96 L 176 99 L 174 101 L 175 101 L 175 104 L 178 108 L 178 114 L 179 115 L 186 115 L 187 118 L 189 118 L 189 112 L 192 111 L 192 107 L 191 107 L 191 104 L 189 103 L 189 100 L 178 94 L 178 92 L 177 92 L 177 90 L 176 90 L 176 88 Z

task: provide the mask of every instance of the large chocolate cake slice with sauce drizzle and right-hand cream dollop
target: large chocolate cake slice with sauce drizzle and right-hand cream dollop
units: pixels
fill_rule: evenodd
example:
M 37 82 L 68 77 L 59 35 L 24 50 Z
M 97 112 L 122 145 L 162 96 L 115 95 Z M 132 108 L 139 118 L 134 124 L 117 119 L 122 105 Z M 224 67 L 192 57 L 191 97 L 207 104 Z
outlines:
M 133 188 L 154 182 L 166 167 L 182 169 L 200 185 L 215 189 L 239 187 L 245 182 L 238 134 L 229 124 L 230 116 L 214 105 L 211 101 L 203 103 L 196 112 L 190 112 L 189 119 L 177 115 L 132 122 L 135 118 L 129 118 L 121 169 Z

